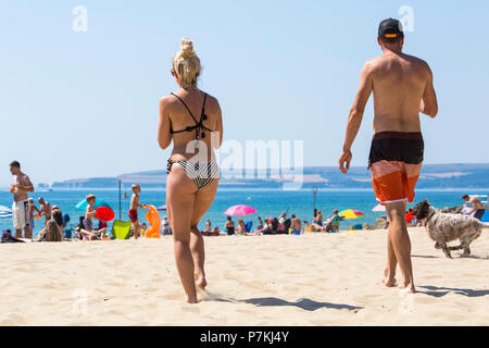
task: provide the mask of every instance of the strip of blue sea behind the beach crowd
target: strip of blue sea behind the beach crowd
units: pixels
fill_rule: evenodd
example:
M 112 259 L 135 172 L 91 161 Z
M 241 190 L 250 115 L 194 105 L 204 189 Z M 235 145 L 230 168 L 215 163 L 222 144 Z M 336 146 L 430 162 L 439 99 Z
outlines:
M 58 204 L 63 214 L 67 213 L 71 216 L 71 223 L 73 227 L 76 226 L 79 216 L 84 214 L 84 211 L 79 211 L 75 208 L 76 203 L 83 200 L 86 195 L 95 194 L 97 198 L 106 201 L 115 212 L 115 217 L 118 219 L 118 191 L 116 190 L 60 190 L 60 191 L 36 191 L 30 195 L 37 202 L 37 198 L 42 196 L 45 200 L 49 201 L 51 206 Z M 127 212 L 129 210 L 130 191 L 127 191 L 128 198 L 122 198 L 122 220 L 128 221 Z M 427 198 L 431 204 L 436 208 L 460 206 L 463 194 L 468 195 L 487 195 L 486 190 L 417 190 L 416 202 Z M 140 194 L 141 203 L 153 204 L 155 207 L 165 203 L 164 190 L 142 190 Z M 0 204 L 12 207 L 12 195 L 9 191 L 0 191 Z M 258 213 L 253 215 L 243 216 L 246 222 L 252 221 L 253 226 L 256 226 L 258 216 L 264 217 L 278 217 L 280 213 L 287 212 L 296 214 L 301 220 L 312 221 L 314 213 L 314 196 L 312 190 L 298 190 L 298 191 L 285 191 L 285 190 L 243 190 L 243 189 L 222 189 L 217 191 L 214 203 L 209 212 L 203 216 L 199 227 L 203 228 L 205 220 L 210 219 L 213 226 L 223 227 L 226 215 L 223 212 L 235 204 L 247 204 L 256 209 Z M 323 216 L 326 219 L 330 216 L 334 209 L 355 209 L 365 214 L 365 217 L 344 221 L 341 224 L 341 228 L 349 228 L 353 224 L 368 223 L 375 224 L 376 219 L 385 214 L 385 212 L 373 212 L 372 209 L 376 206 L 375 196 L 372 190 L 318 190 L 316 194 L 315 207 L 323 211 Z M 413 204 L 411 204 L 413 206 Z M 140 210 L 139 216 L 141 222 L 147 222 L 143 217 L 145 210 Z M 163 217 L 165 212 L 161 212 Z M 42 228 L 43 220 L 36 220 L 36 227 L 34 235 L 36 236 Z M 97 222 L 95 223 L 97 226 Z M 111 226 L 111 225 L 110 225 Z M 12 219 L 0 219 L 0 231 L 13 228 Z

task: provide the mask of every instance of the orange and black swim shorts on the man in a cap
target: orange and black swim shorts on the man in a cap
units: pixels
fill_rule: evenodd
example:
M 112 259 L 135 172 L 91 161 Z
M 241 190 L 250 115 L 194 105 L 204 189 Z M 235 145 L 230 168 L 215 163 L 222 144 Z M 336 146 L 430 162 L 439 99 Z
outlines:
M 423 152 L 423 136 L 418 132 L 380 132 L 374 135 L 368 167 L 379 203 L 414 201 Z

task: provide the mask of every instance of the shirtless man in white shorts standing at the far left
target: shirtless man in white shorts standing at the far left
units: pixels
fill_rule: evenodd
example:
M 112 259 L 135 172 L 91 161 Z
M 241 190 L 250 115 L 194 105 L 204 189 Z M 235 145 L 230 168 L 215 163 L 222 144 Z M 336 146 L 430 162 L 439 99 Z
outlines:
M 14 199 L 12 204 L 12 215 L 15 237 L 22 238 L 22 228 L 24 228 L 24 237 L 32 238 L 33 234 L 29 228 L 28 192 L 34 192 L 34 186 L 33 183 L 30 183 L 29 177 L 21 172 L 21 163 L 17 161 L 10 163 L 10 172 L 15 176 L 13 184 L 10 185 L 9 188 Z

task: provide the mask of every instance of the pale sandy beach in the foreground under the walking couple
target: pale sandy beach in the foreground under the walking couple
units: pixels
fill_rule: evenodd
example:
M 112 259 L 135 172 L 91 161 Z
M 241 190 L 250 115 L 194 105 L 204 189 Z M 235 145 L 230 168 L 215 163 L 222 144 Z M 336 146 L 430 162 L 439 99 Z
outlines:
M 489 232 L 452 260 L 410 235 L 415 295 L 381 285 L 385 231 L 208 237 L 198 304 L 171 237 L 0 245 L 0 325 L 488 325 Z

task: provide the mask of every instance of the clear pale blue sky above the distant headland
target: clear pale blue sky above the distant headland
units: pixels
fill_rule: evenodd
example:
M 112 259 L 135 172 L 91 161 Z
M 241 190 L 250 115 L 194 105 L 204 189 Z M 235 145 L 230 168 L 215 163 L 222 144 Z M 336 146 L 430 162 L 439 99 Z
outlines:
M 78 4 L 87 33 L 72 29 Z M 489 162 L 486 1 L 3 0 L 0 186 L 13 159 L 35 183 L 164 169 L 158 104 L 176 90 L 184 36 L 225 139 L 303 139 L 305 165 L 337 165 L 377 25 L 402 5 L 414 10 L 404 51 L 430 64 L 439 97 L 438 119 L 423 116 L 426 163 Z M 369 102 L 353 165 L 366 165 L 372 117 Z

